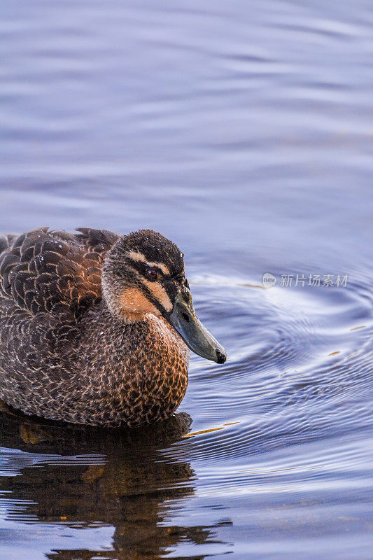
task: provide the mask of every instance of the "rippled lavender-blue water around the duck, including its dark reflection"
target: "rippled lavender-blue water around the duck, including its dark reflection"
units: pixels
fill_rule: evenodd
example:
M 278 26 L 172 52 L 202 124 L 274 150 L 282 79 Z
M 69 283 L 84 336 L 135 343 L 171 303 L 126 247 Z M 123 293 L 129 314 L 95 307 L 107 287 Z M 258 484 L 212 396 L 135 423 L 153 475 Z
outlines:
M 371 559 L 372 5 L 2 14 L 1 230 L 160 230 L 229 360 L 157 430 L 3 412 L 1 560 Z

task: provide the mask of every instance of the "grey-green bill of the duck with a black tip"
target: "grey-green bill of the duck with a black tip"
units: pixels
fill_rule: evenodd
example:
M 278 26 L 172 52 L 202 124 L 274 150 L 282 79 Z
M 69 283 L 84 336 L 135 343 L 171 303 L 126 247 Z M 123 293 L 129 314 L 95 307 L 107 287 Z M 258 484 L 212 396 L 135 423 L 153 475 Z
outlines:
M 216 363 L 224 363 L 227 353 L 223 346 L 202 325 L 191 305 L 184 302 L 181 295 L 176 297 L 167 321 L 174 327 L 190 350 Z

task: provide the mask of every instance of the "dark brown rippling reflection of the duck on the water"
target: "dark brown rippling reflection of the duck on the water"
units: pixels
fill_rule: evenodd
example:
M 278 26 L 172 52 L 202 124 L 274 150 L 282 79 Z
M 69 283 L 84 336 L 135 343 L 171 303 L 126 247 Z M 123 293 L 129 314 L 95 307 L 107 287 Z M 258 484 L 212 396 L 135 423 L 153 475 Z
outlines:
M 188 414 L 131 431 L 54 424 L 9 410 L 0 412 L 0 422 L 1 446 L 36 458 L 36 466 L 20 465 L 22 475 L 5 477 L 12 500 L 29 500 L 24 512 L 28 519 L 31 515 L 38 521 L 80 528 L 97 524 L 115 528 L 112 550 L 51 546 L 54 552 L 46 558 L 150 560 L 180 541 L 209 540 L 211 528 L 165 522 L 169 501 L 174 504 L 194 492 L 190 464 L 162 451 L 188 432 Z

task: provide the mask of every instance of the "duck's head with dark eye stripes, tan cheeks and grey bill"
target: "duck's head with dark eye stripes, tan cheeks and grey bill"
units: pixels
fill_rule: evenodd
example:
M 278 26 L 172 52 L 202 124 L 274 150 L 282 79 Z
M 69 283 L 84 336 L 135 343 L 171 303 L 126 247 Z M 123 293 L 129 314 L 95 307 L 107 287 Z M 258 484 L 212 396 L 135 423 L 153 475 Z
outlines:
M 217 363 L 227 359 L 195 314 L 183 253 L 160 233 L 139 230 L 121 237 L 106 255 L 102 290 L 114 316 L 126 321 L 162 316 L 199 356 Z

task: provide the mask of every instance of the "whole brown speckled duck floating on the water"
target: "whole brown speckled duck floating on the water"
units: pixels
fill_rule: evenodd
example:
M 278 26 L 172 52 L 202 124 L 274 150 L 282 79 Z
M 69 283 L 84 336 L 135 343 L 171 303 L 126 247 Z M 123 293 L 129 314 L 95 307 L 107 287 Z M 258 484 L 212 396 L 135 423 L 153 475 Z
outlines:
M 174 414 L 190 350 L 227 353 L 197 318 L 162 234 L 37 228 L 0 237 L 0 399 L 30 416 L 143 426 Z

